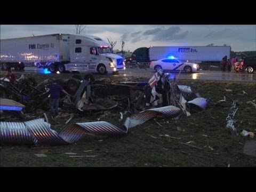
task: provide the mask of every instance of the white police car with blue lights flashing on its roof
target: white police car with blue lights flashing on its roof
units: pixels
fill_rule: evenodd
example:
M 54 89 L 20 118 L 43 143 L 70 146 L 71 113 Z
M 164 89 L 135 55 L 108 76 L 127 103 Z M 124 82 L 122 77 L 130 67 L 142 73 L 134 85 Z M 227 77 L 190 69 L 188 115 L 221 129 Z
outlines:
M 150 69 L 158 71 L 162 69 L 163 71 L 185 71 L 186 73 L 194 73 L 199 70 L 199 65 L 197 63 L 181 62 L 175 58 L 164 58 L 157 61 L 151 61 L 149 64 Z

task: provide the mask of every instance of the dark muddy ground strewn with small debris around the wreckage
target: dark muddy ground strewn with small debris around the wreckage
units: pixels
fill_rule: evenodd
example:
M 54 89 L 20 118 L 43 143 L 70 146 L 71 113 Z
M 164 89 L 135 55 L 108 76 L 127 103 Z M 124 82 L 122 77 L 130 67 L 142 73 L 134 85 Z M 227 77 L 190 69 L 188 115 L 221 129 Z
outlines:
M 53 74 L 47 76 L 32 74 L 32 76 L 37 82 L 56 77 Z M 60 74 L 59 78 L 66 79 L 71 76 L 71 74 Z M 99 75 L 95 77 L 106 78 Z M 107 78 L 109 82 L 145 80 L 138 77 L 124 79 L 124 77 L 108 76 Z M 246 103 L 256 99 L 255 83 L 179 79 L 178 81 L 181 85 L 191 86 L 191 89 L 199 92 L 201 97 L 209 98 L 209 107 L 205 111 L 179 120 L 151 119 L 133 127 L 129 133 L 122 136 L 85 134 L 83 139 L 73 145 L 58 147 L 1 146 L 0 164 L 1 166 L 76 167 L 256 166 L 256 157 L 243 154 L 244 143 L 250 138 L 240 134 L 243 130 L 256 132 L 256 107 Z M 227 96 L 227 101 L 217 103 L 223 99 L 224 94 Z M 237 134 L 232 134 L 226 128 L 226 117 L 232 106 L 229 98 L 238 101 L 238 110 L 234 117 Z M 68 113 L 65 110 L 61 112 Z M 102 114 L 75 116 L 70 123 L 98 121 L 99 115 Z M 124 119 L 126 117 L 127 115 L 124 115 Z M 122 127 L 124 120 L 123 122 L 118 120 L 119 113 L 105 113 L 100 117 L 100 121 Z M 49 118 L 49 121 L 52 129 L 60 132 L 66 126 L 67 118 L 55 120 Z M 46 157 L 37 157 L 35 154 L 45 154 Z

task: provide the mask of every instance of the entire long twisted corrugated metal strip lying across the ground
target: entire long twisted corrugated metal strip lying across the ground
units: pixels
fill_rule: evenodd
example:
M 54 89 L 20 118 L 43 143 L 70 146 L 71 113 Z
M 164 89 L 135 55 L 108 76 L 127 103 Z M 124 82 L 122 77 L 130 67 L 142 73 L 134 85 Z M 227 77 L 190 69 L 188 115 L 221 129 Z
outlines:
M 178 116 L 182 110 L 175 106 L 166 106 L 148 109 L 128 117 L 124 123 L 125 128 L 104 121 L 75 123 L 68 125 L 60 133 L 51 129 L 51 124 L 44 122 L 43 118 L 27 122 L 0 122 L 1 145 L 67 145 L 81 139 L 85 132 L 98 134 L 125 134 L 129 128 L 162 116 Z

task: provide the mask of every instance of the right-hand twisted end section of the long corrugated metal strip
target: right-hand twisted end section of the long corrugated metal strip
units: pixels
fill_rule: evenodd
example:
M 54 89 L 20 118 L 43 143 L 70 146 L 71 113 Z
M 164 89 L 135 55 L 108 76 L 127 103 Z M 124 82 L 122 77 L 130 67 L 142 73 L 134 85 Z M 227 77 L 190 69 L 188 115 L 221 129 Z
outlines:
M 182 113 L 183 111 L 180 108 L 175 106 L 165 106 L 165 107 L 159 107 L 155 109 L 148 109 L 145 111 L 141 111 L 140 113 L 134 114 L 131 117 L 127 117 L 125 119 L 124 126 L 127 129 L 130 129 L 134 126 L 145 123 L 149 119 L 156 116 L 176 117 L 178 115 L 181 115 Z

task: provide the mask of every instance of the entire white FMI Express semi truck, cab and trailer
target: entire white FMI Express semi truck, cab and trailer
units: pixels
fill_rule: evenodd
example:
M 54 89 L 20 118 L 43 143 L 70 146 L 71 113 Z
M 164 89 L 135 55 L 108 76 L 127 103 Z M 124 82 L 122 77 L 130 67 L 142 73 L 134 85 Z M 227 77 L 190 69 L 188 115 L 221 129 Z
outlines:
M 125 70 L 123 58 L 92 35 L 51 34 L 1 39 L 0 64 L 4 70 L 24 69 L 34 63 L 55 73 L 89 71 L 106 74 Z

